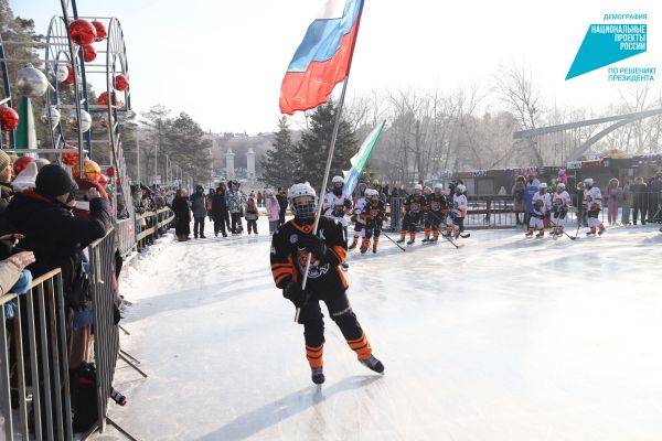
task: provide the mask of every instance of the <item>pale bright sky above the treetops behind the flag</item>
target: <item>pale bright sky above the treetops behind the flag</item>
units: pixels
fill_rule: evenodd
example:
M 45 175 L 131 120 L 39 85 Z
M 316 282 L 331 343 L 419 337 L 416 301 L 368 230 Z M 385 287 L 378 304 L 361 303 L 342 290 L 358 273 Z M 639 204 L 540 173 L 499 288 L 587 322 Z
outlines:
M 127 44 L 131 100 L 163 104 L 205 130 L 276 130 L 280 82 L 322 0 L 77 0 L 81 15 L 117 17 Z M 10 0 L 45 33 L 56 0 Z M 623 9 L 626 8 L 627 9 Z M 633 0 L 366 0 L 349 98 L 372 89 L 478 84 L 501 64 L 527 65 L 547 103 L 600 108 L 636 87 L 607 82 L 606 68 L 565 80 L 590 23 L 605 13 L 647 13 L 649 49 L 616 66 L 660 71 L 662 2 Z M 655 76 L 654 86 L 660 86 Z M 295 118 L 295 127 L 301 118 Z

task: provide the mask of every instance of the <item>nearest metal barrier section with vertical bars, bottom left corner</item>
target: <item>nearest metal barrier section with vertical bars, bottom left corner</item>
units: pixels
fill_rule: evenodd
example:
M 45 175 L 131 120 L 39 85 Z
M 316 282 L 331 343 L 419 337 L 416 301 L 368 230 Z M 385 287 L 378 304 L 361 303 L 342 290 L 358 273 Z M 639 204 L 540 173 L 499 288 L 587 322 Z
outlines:
M 11 319 L 7 304 L 15 311 Z M 60 269 L 35 279 L 24 295 L 1 297 L 0 306 L 0 407 L 6 440 L 19 433 L 24 440 L 29 433 L 36 440 L 73 440 Z

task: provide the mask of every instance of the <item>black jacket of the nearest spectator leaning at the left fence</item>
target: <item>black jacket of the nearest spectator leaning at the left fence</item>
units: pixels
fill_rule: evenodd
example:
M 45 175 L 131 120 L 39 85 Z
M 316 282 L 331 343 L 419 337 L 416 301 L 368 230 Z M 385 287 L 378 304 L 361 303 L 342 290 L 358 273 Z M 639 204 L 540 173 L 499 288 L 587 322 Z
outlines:
M 106 235 L 113 225 L 110 203 L 89 202 L 89 218 L 74 217 L 68 207 L 26 191 L 17 194 L 4 212 L 14 232 L 25 236 L 19 247 L 33 251 L 36 261 L 28 269 L 36 278 L 52 269 L 77 270 L 79 251 Z

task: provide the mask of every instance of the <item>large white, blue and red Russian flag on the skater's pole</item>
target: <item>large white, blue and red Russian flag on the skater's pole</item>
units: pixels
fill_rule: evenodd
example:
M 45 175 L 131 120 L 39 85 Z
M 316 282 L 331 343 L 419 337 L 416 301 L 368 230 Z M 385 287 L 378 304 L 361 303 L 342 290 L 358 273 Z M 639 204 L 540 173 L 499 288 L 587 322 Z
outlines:
M 292 115 L 329 100 L 350 72 L 364 0 L 327 0 L 308 28 L 280 87 L 280 111 Z

